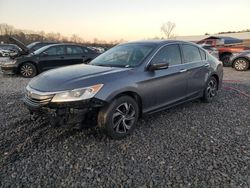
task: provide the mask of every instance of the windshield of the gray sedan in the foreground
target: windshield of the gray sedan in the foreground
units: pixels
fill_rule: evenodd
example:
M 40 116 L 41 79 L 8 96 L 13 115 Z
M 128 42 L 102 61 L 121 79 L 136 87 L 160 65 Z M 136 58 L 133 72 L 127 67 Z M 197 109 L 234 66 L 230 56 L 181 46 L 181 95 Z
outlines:
M 136 67 L 155 48 L 152 44 L 126 44 L 111 48 L 91 61 L 91 65 L 107 67 Z

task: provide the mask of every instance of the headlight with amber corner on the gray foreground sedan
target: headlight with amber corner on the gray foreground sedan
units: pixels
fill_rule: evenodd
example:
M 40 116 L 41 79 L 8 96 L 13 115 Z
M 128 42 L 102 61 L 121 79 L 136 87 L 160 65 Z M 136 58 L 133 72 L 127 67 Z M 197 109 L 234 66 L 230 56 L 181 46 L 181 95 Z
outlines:
M 51 102 L 72 102 L 90 99 L 102 88 L 103 84 L 97 84 L 90 87 L 74 89 L 55 94 Z

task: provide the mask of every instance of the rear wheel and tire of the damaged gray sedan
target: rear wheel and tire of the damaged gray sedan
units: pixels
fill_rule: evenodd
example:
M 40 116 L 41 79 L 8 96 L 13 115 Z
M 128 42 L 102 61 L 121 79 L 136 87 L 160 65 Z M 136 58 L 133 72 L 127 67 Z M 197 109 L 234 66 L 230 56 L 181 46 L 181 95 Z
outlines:
M 210 103 L 217 95 L 218 82 L 215 77 L 210 77 L 206 83 L 206 87 L 203 92 L 202 100 L 203 102 Z

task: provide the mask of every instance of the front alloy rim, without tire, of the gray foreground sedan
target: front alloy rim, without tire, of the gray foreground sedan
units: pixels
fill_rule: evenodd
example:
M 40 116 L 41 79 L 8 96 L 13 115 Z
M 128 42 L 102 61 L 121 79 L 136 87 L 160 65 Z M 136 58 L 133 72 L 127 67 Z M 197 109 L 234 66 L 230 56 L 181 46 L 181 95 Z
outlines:
M 132 104 L 124 102 L 120 104 L 113 116 L 113 129 L 117 133 L 127 133 L 135 122 L 136 111 Z

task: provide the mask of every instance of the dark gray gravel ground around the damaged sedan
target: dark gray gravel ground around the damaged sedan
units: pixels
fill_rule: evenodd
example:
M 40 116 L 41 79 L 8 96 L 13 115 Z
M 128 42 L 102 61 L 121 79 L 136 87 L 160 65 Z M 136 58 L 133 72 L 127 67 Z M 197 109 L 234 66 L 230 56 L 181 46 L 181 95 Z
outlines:
M 238 74 L 225 69 L 213 103 L 146 116 L 120 141 L 30 121 L 29 80 L 0 74 L 0 187 L 250 187 L 250 98 L 232 89 L 250 95 L 250 71 Z

